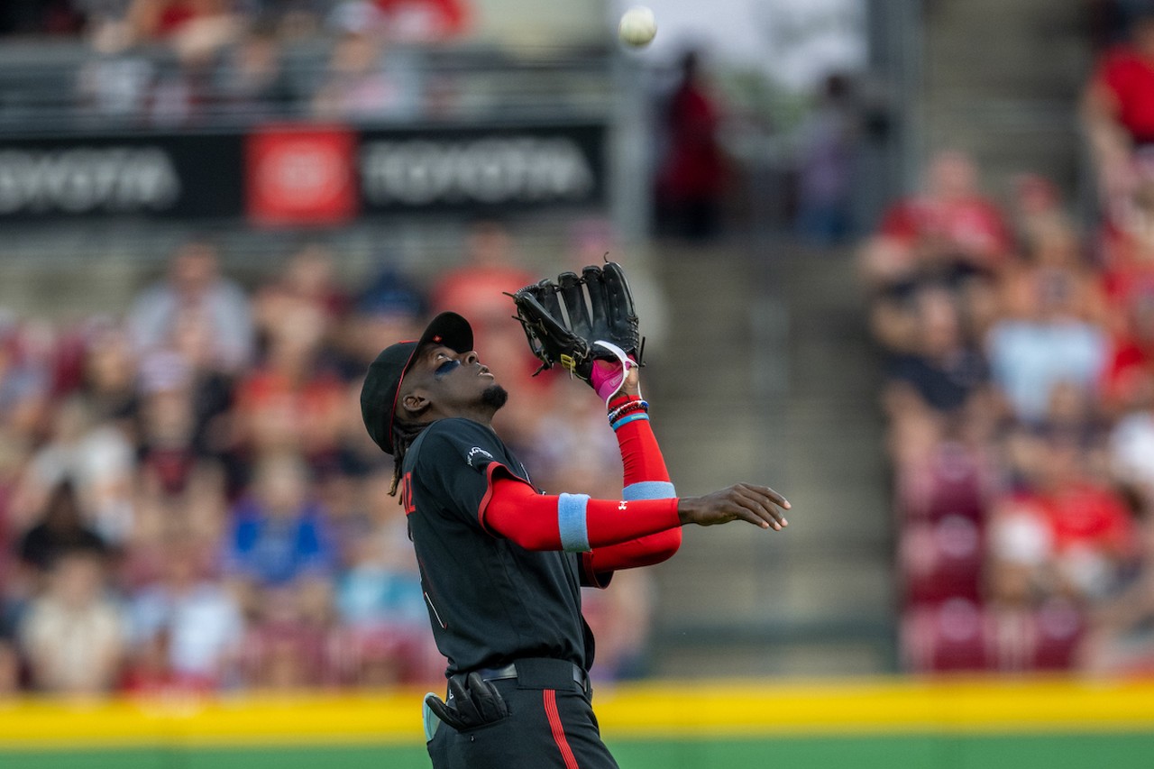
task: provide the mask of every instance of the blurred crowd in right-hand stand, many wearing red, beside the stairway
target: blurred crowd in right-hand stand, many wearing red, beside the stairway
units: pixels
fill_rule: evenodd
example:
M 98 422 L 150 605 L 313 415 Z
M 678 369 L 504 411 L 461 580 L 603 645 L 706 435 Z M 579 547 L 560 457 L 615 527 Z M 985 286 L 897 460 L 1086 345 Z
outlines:
M 1099 214 L 944 151 L 862 245 L 908 670 L 1154 672 L 1152 96 L 1147 13 L 1086 85 Z

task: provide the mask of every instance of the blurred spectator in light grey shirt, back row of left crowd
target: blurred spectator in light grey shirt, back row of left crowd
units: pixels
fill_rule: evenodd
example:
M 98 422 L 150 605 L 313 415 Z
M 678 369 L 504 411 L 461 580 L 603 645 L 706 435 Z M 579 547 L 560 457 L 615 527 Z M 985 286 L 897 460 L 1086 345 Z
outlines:
M 137 350 L 163 348 L 182 312 L 198 309 L 211 329 L 212 365 L 235 373 L 253 354 L 253 321 L 248 298 L 232 281 L 222 277 L 217 248 L 205 240 L 190 240 L 177 249 L 167 279 L 141 292 L 128 314 Z

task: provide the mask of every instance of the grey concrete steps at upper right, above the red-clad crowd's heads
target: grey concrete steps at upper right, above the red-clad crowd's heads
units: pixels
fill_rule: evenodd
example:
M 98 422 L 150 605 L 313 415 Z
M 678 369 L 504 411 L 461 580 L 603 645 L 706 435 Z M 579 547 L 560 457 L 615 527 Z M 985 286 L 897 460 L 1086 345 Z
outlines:
M 1074 106 L 1092 60 L 1085 5 L 926 0 L 916 114 L 922 149 L 973 154 L 990 192 L 1037 171 L 1082 184 Z

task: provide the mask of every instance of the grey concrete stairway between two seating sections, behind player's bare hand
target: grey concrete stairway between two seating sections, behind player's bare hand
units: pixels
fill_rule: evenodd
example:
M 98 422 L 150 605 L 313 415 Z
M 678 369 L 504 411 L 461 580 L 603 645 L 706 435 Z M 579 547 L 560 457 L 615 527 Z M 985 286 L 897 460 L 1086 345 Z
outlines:
M 892 559 L 854 274 L 845 255 L 752 248 L 658 249 L 676 312 L 651 378 L 654 428 L 679 493 L 764 483 L 794 512 L 780 533 L 685 530 L 681 553 L 654 569 L 657 672 L 881 672 Z

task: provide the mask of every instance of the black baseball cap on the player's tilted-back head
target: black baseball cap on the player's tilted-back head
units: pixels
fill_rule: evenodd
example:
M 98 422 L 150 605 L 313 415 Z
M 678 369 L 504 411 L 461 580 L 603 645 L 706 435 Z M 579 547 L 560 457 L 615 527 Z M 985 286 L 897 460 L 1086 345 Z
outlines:
M 427 344 L 469 352 L 473 349 L 473 328 L 457 313 L 441 313 L 425 328 L 421 338 L 391 344 L 369 364 L 361 387 L 361 419 L 369 438 L 385 454 L 392 454 L 392 423 L 397 416 L 400 382 L 412 368 L 417 351 Z

